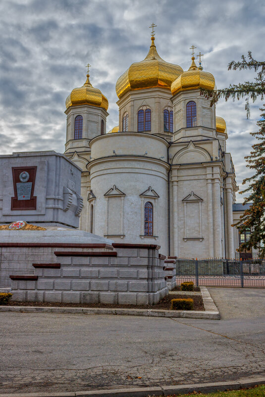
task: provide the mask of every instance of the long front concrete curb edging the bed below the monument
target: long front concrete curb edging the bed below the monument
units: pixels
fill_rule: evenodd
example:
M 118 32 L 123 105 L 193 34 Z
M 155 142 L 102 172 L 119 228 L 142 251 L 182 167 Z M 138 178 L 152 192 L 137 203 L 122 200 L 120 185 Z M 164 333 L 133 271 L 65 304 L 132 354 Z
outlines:
M 106 309 L 94 307 L 59 307 L 59 306 L 0 306 L 0 312 L 21 313 L 71 313 L 71 314 L 112 314 L 147 317 L 185 317 L 219 320 L 219 312 L 195 310 L 159 310 L 159 309 Z

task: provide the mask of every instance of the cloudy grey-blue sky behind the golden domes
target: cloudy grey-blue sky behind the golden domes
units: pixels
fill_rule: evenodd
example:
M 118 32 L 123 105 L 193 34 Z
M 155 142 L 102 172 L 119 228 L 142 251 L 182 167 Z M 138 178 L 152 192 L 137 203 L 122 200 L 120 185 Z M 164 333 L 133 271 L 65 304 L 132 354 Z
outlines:
M 254 72 L 228 71 L 230 60 L 248 50 L 265 59 L 265 2 L 262 0 L 1 0 L 0 154 L 64 151 L 65 99 L 90 81 L 109 102 L 107 131 L 117 125 L 115 84 L 150 46 L 166 61 L 190 66 L 192 44 L 204 53 L 204 70 L 218 88 L 252 80 Z M 226 120 L 237 183 L 249 175 L 244 155 L 251 149 L 261 100 L 246 119 L 244 101 L 220 101 Z M 239 197 L 242 201 L 242 196 Z

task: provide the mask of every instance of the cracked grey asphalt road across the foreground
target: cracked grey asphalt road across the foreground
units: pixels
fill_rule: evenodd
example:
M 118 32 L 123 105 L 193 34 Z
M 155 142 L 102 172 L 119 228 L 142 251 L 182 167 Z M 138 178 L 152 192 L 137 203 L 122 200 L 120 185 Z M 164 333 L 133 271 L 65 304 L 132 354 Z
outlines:
M 223 292 L 216 289 L 212 295 L 223 311 L 220 321 L 0 313 L 0 393 L 174 385 L 264 374 L 264 312 L 241 317 L 239 307 L 229 318 L 231 302 L 227 307 L 223 297 L 233 291 L 218 290 Z M 235 289 L 232 305 L 240 306 L 249 291 Z M 264 296 L 265 290 L 259 291 Z

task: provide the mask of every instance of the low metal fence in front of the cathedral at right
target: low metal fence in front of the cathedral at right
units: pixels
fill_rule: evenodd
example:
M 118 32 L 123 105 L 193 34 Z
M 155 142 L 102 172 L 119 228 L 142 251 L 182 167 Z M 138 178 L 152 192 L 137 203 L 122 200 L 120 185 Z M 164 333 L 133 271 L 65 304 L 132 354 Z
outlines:
M 265 287 L 265 260 L 178 258 L 177 285 L 185 281 L 196 286 Z

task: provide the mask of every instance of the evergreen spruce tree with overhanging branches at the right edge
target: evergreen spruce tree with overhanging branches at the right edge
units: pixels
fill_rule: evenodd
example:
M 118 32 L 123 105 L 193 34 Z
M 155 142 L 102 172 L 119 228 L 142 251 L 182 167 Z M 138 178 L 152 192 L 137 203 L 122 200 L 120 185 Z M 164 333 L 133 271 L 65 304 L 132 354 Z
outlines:
M 252 53 L 248 52 L 248 57 L 242 55 L 242 61 L 232 61 L 228 64 L 228 70 L 254 69 L 257 73 L 253 82 L 246 81 L 238 85 L 231 85 L 228 88 L 217 91 L 201 90 L 201 95 L 211 98 L 211 105 L 218 99 L 242 99 L 246 98 L 247 118 L 250 117 L 249 99 L 253 102 L 259 97 L 264 99 L 265 95 L 265 62 L 257 61 L 253 58 Z M 265 104 L 263 105 L 265 106 Z M 258 132 L 250 133 L 257 139 L 257 143 L 252 146 L 253 150 L 250 155 L 246 156 L 247 167 L 253 170 L 254 174 L 243 181 L 243 185 L 248 187 L 239 192 L 247 193 L 248 197 L 244 198 L 244 204 L 252 202 L 250 208 L 244 211 L 241 219 L 232 226 L 236 226 L 239 233 L 250 232 L 249 240 L 240 245 L 240 251 L 250 248 L 259 248 L 262 258 L 265 257 L 265 107 L 262 111 L 260 120 L 257 122 L 260 128 Z

